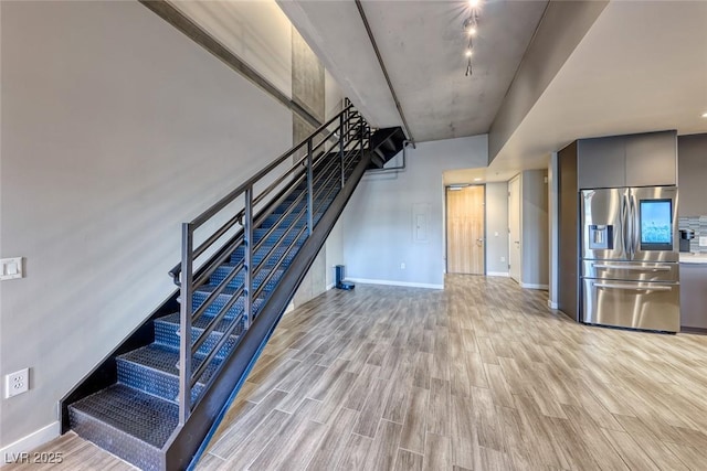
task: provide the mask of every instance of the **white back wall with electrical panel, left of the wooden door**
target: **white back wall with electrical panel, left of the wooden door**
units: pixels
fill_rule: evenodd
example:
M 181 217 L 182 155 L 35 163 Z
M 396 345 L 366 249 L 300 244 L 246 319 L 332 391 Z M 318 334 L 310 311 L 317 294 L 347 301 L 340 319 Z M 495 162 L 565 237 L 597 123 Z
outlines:
M 344 211 L 347 277 L 393 285 L 444 283 L 446 170 L 485 167 L 487 136 L 422 142 L 408 148 L 404 171 L 369 174 Z M 413 237 L 413 210 L 429 215 L 426 240 Z M 400 264 L 405 268 L 401 269 Z

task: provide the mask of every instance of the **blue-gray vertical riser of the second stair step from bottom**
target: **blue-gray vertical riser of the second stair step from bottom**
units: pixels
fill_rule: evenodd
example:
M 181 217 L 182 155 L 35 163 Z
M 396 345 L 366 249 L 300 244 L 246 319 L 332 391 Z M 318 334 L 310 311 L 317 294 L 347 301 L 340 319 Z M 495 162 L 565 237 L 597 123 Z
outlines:
M 155 370 L 139 363 L 117 358 L 118 383 L 143 390 L 152 396 L 177 404 L 179 376 Z M 196 400 L 203 390 L 203 384 L 197 383 L 191 389 L 191 399 Z

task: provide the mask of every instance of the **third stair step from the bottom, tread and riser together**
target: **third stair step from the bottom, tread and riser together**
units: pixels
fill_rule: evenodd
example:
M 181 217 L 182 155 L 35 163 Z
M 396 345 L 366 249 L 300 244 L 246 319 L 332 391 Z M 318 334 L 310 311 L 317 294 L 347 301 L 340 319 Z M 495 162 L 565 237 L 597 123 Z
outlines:
M 212 320 L 212 317 L 202 315 L 197 319 L 191 327 L 191 340 L 193 342 L 201 335 L 201 333 L 205 330 L 209 322 Z M 215 329 L 209 334 L 205 342 L 199 347 L 197 351 L 197 356 L 205 356 L 211 352 L 211 350 L 217 345 L 217 343 L 223 338 L 223 333 L 231 327 L 233 320 L 232 319 L 222 319 L 215 327 Z M 239 320 L 239 327 L 235 328 L 233 334 L 230 335 L 225 345 L 221 349 L 221 351 L 217 354 L 218 358 L 224 358 L 226 353 L 235 345 L 239 340 L 239 336 L 243 333 L 244 320 Z M 165 315 L 162 318 L 155 320 L 155 343 L 165 345 L 171 349 L 179 349 L 180 341 L 180 322 L 179 322 L 179 312 L 175 312 L 173 314 Z

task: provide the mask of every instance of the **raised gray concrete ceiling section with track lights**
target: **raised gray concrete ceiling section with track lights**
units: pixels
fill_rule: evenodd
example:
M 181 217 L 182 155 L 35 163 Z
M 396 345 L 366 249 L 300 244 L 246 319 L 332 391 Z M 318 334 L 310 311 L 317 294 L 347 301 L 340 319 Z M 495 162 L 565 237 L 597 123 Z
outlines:
M 488 131 L 547 0 L 484 1 L 471 76 L 464 75 L 467 1 L 361 3 L 409 131 L 422 142 Z M 402 125 L 354 1 L 281 7 L 371 125 Z

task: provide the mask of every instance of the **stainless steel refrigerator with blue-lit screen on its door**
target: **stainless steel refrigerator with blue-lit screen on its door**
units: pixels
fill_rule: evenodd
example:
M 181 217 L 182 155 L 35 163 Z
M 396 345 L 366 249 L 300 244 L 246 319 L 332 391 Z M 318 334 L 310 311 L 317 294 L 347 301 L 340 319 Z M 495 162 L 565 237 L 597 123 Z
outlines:
M 585 323 L 679 330 L 677 188 L 583 190 Z

